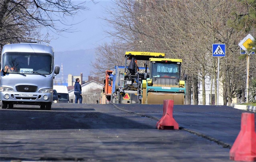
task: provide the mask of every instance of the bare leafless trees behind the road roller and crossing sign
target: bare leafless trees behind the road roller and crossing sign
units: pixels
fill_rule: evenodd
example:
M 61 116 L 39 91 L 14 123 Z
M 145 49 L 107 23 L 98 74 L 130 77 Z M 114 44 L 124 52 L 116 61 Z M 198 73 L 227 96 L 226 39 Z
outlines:
M 115 30 L 108 33 L 124 40 L 129 49 L 163 52 L 167 58 L 183 59 L 182 72 L 191 76 L 187 91 L 193 89 L 194 104 L 198 103 L 198 83 L 202 103 L 206 104 L 206 79 L 210 95 L 217 98 L 218 59 L 212 57 L 213 43 L 226 44 L 226 57 L 220 58 L 219 80 L 224 104 L 230 105 L 237 87 L 245 86 L 241 81 L 245 60 L 239 59 L 238 47 L 244 31 L 230 21 L 234 13 L 239 15 L 241 5 L 237 1 L 115 0 L 113 6 L 109 10 L 112 17 L 106 20 Z

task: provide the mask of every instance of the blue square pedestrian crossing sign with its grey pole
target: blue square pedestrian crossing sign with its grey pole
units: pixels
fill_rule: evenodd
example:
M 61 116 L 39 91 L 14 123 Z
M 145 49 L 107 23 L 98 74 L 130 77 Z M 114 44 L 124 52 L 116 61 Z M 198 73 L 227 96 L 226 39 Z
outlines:
M 219 105 L 220 57 L 226 55 L 226 44 L 213 44 L 213 57 L 218 57 L 217 105 Z

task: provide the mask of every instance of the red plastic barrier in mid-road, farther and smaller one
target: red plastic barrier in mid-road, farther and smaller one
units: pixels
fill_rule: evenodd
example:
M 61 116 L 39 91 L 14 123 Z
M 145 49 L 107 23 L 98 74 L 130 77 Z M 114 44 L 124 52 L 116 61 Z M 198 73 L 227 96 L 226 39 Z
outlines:
M 156 123 L 157 129 L 179 129 L 179 124 L 174 120 L 172 116 L 173 103 L 173 100 L 163 101 L 163 116 Z

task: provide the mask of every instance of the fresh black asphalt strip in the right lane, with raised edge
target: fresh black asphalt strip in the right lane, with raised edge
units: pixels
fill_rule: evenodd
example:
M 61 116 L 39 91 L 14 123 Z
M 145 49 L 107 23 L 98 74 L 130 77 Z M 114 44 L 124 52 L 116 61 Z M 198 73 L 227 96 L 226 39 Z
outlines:
M 163 105 L 122 104 L 119 106 L 116 104 L 116 106 L 120 110 L 148 117 L 153 116 L 156 119 L 160 119 L 163 115 Z M 234 109 L 229 106 L 173 106 L 173 118 L 179 124 L 179 127 L 217 143 L 219 142 L 223 147 L 231 147 L 235 142 L 241 130 L 241 115 L 243 112 L 248 111 Z

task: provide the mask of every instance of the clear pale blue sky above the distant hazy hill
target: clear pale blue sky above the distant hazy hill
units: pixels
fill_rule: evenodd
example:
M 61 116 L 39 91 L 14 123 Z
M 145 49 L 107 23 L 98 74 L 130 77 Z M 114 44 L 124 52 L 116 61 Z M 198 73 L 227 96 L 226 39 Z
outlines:
M 100 19 L 103 17 L 106 11 L 105 7 L 110 5 L 110 0 L 97 0 L 97 4 L 94 4 L 90 0 L 86 1 L 86 6 L 90 8 L 89 11 L 83 11 L 76 15 L 74 19 L 69 18 L 69 24 L 76 24 L 73 26 L 77 32 L 74 33 L 62 33 L 63 36 L 53 34 L 56 40 L 52 40 L 50 46 L 52 46 L 55 52 L 65 52 L 69 50 L 80 49 L 92 49 L 97 44 L 103 42 L 109 42 L 111 39 L 103 32 L 109 27 L 106 26 L 106 22 Z M 106 13 L 106 12 L 105 12 Z M 60 26 L 60 25 L 59 25 Z

